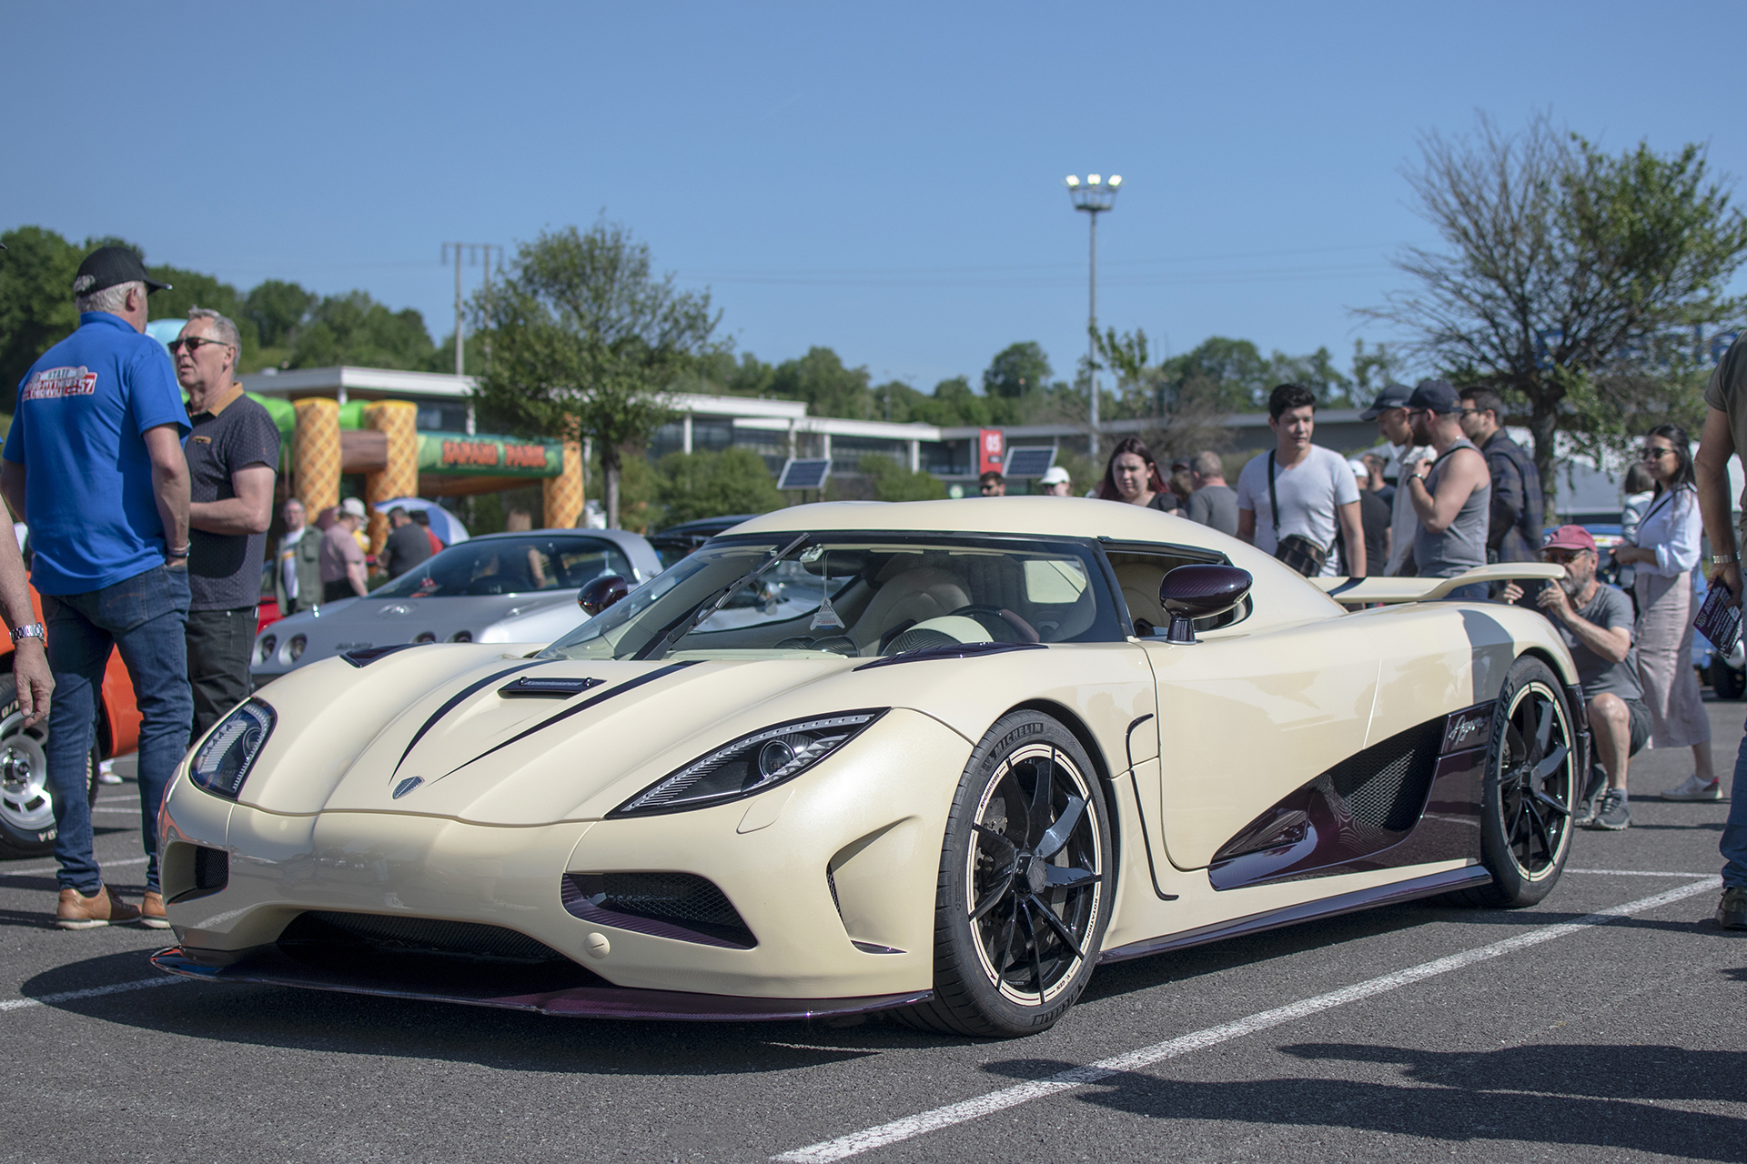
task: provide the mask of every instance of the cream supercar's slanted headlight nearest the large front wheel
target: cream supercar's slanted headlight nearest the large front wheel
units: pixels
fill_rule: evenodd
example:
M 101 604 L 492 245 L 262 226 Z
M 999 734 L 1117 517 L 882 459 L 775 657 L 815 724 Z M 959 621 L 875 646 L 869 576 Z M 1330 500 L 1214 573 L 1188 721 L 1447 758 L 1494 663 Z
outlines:
M 755 731 L 662 777 L 606 815 L 680 811 L 755 796 L 812 768 L 886 710 L 839 712 Z

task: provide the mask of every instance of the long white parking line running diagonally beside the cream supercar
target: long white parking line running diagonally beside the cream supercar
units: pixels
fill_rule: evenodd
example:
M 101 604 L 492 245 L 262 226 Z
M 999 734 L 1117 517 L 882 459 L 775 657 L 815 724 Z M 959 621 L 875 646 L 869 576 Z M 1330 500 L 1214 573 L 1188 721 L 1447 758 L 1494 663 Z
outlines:
M 1502 942 L 1464 949 L 1459 955 L 1424 962 L 1417 967 L 1408 967 L 1406 970 L 1396 970 L 1394 974 L 1384 974 L 1382 977 L 1373 977 L 1366 983 L 1357 983 L 1356 986 L 1347 986 L 1328 995 L 1317 995 L 1315 998 L 1305 998 L 1284 1007 L 1275 1007 L 1274 1010 L 1251 1014 L 1249 1017 L 1237 1019 L 1235 1023 L 1225 1023 L 1223 1026 L 1209 1026 L 1207 1030 L 1195 1031 L 1193 1035 L 1183 1035 L 1169 1042 L 1153 1044 L 1151 1047 L 1130 1051 L 1129 1054 L 1115 1056 L 1111 1059 L 1099 1059 L 1097 1063 L 1088 1063 L 1085 1066 L 1067 1068 L 1066 1072 L 1059 1072 L 1048 1078 L 1019 1084 L 1015 1087 L 1003 1087 L 1001 1091 L 992 1091 L 985 1096 L 977 1096 L 975 1099 L 949 1103 L 947 1106 L 935 1108 L 933 1112 L 922 1112 L 921 1115 L 910 1115 L 901 1120 L 893 1120 L 891 1124 L 880 1124 L 879 1127 L 849 1133 L 847 1136 L 814 1143 L 805 1148 L 795 1148 L 793 1152 L 772 1155 L 770 1159 L 783 1161 L 784 1164 L 828 1164 L 830 1161 L 844 1161 L 851 1155 L 870 1152 L 872 1148 L 884 1148 L 942 1127 L 952 1127 L 954 1124 L 964 1124 L 994 1112 L 1003 1112 L 1020 1103 L 1043 1099 L 1045 1096 L 1083 1087 L 1085 1084 L 1095 1084 L 1109 1078 L 1111 1075 L 1137 1072 L 1144 1066 L 1151 1066 L 1153 1063 L 1162 1063 L 1164 1059 L 1174 1059 L 1191 1051 L 1204 1051 L 1216 1044 L 1223 1044 L 1242 1035 L 1253 1035 L 1254 1031 L 1263 1031 L 1270 1026 L 1281 1026 L 1282 1023 L 1291 1023 L 1293 1019 L 1309 1017 L 1321 1010 L 1343 1007 L 1349 1002 L 1359 1002 L 1361 998 L 1370 998 L 1371 995 L 1399 989 L 1412 983 L 1436 977 L 1438 974 L 1460 970 L 1462 967 L 1474 965 L 1476 962 L 1527 949 L 1529 946 L 1539 946 L 1541 942 L 1550 942 L 1555 937 L 1565 937 L 1567 934 L 1578 934 L 1579 930 L 1586 930 L 1595 925 L 1619 921 L 1633 913 L 1656 909 L 1658 906 L 1667 906 L 1695 894 L 1716 890 L 1721 883 L 1723 878 L 1707 876 L 1702 881 L 1693 881 L 1691 885 L 1682 885 L 1653 897 L 1640 897 L 1639 900 L 1626 902 L 1625 906 L 1614 906 L 1612 909 L 1586 914 L 1576 921 L 1562 921 L 1539 930 L 1529 930 L 1527 934 L 1508 937 Z

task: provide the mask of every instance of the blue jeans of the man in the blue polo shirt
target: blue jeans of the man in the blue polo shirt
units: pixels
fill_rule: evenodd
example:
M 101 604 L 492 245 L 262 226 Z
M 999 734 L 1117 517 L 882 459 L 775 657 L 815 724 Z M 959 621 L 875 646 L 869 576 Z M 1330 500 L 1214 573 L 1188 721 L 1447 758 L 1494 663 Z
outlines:
M 86 757 L 110 647 L 121 651 L 140 705 L 140 839 L 145 888 L 157 890 L 157 808 L 189 750 L 189 572 L 154 565 L 103 590 L 44 595 L 49 620 L 49 785 L 54 789 L 54 859 L 61 888 L 94 894 L 103 871 L 91 852 Z

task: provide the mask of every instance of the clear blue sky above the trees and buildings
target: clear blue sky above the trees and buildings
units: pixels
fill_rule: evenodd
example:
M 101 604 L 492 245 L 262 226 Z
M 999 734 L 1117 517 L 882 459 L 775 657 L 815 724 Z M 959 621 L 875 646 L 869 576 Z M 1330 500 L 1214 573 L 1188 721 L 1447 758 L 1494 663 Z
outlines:
M 1387 339 L 1424 131 L 1537 108 L 1747 175 L 1724 3 L 0 3 L 0 229 L 365 288 L 452 328 L 445 239 L 629 225 L 763 359 L 924 391 L 1101 323 L 1183 351 Z M 463 269 L 468 288 L 479 269 Z

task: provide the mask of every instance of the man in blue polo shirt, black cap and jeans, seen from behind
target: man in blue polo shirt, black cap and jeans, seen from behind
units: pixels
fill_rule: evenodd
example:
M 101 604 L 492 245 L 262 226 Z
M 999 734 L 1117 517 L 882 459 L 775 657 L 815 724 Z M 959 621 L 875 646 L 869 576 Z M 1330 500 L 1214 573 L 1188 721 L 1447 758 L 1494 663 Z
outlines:
M 47 616 L 54 703 L 49 787 L 61 895 L 54 921 L 168 927 L 157 892 L 157 806 L 189 747 L 189 466 L 175 370 L 143 335 L 162 290 L 140 257 L 105 246 L 79 265 L 79 330 L 30 366 L 0 450 L 0 492 L 30 524 L 31 581 Z M 145 900 L 121 900 L 91 852 L 86 773 L 96 693 L 119 649 L 140 705 Z

